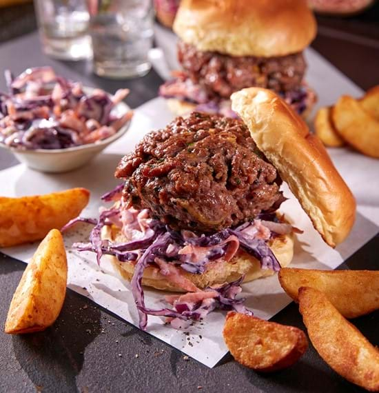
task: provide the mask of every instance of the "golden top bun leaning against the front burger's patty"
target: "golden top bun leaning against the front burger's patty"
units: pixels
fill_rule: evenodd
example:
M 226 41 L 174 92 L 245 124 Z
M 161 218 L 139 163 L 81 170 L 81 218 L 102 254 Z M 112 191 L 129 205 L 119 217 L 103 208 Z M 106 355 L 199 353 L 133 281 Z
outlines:
M 232 109 L 249 127 L 258 148 L 300 201 L 314 227 L 332 247 L 354 225 L 356 201 L 325 147 L 274 92 L 249 88 L 232 94 Z

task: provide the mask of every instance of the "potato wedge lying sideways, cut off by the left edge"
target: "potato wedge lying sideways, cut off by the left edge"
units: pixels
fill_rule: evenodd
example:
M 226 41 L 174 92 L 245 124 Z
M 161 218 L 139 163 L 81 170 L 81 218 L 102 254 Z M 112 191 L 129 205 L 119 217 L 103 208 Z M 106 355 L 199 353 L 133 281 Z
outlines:
M 0 198 L 0 247 L 43 239 L 78 216 L 90 199 L 85 188 L 52 194 Z

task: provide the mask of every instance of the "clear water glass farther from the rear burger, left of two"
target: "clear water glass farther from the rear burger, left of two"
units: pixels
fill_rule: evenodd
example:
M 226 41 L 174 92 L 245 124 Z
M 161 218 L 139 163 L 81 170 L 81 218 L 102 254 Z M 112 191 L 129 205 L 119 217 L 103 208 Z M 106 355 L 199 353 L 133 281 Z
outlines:
M 34 0 L 39 34 L 46 54 L 64 60 L 92 57 L 88 1 Z

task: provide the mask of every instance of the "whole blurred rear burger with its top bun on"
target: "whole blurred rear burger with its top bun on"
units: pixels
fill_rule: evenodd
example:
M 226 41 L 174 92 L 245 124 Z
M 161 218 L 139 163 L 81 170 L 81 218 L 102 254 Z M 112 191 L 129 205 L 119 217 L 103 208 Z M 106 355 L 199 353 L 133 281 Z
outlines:
M 176 114 L 235 116 L 233 92 L 268 88 L 306 117 L 316 94 L 304 80 L 303 50 L 316 35 L 305 0 L 183 0 L 174 21 L 183 70 L 160 94 Z

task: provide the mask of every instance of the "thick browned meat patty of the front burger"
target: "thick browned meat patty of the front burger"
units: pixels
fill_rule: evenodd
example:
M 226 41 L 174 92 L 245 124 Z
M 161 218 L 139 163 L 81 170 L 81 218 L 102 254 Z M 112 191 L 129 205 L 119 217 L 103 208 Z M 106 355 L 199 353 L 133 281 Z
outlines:
M 172 228 L 214 232 L 279 201 L 280 179 L 244 123 L 192 113 L 151 132 L 123 157 L 124 197 Z

